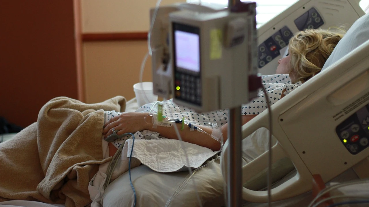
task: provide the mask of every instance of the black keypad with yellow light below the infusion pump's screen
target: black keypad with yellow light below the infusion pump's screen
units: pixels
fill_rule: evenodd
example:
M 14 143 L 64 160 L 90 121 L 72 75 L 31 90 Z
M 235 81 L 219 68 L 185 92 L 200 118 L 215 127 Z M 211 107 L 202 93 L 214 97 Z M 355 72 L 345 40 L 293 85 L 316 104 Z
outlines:
M 176 72 L 175 98 L 201 106 L 201 79 L 198 76 Z

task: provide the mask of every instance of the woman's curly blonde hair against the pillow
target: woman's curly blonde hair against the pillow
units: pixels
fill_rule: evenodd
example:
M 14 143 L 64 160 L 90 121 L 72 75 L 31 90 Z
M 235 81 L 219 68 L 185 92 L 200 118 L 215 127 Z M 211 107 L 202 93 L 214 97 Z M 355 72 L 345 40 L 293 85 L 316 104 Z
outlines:
M 345 30 L 307 29 L 294 35 L 289 42 L 291 73 L 304 83 L 318 74 L 325 61 L 342 39 Z

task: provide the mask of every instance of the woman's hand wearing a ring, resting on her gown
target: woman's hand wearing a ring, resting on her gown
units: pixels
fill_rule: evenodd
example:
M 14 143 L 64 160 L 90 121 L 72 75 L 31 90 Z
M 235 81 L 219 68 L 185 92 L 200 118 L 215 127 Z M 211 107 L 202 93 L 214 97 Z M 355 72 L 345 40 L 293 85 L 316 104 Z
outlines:
M 148 124 L 145 122 L 146 115 L 148 113 L 129 112 L 115 116 L 104 124 L 103 135 L 106 138 L 113 134 L 113 127 L 117 131 L 117 135 L 145 130 L 148 128 Z

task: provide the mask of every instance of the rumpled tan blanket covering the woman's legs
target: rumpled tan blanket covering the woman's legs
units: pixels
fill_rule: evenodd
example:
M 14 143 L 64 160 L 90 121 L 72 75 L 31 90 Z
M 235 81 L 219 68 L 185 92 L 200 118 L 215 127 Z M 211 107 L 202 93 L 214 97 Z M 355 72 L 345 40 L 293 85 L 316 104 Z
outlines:
M 46 103 L 36 123 L 0 144 L 0 201 L 37 200 L 86 206 L 88 183 L 103 159 L 104 110 L 123 112 L 115 97 L 86 104 L 58 97 Z M 27 113 L 27 112 L 25 112 Z

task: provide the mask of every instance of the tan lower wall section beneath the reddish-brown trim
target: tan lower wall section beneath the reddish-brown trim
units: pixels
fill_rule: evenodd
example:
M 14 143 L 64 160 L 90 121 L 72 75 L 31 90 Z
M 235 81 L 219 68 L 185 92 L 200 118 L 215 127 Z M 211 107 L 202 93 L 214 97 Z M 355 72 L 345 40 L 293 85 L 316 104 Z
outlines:
M 96 103 L 117 95 L 133 98 L 133 85 L 139 82 L 146 41 L 84 43 L 86 102 Z M 143 80 L 151 81 L 151 58 L 146 62 Z

